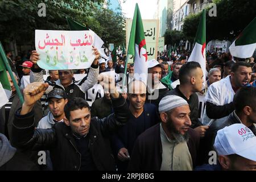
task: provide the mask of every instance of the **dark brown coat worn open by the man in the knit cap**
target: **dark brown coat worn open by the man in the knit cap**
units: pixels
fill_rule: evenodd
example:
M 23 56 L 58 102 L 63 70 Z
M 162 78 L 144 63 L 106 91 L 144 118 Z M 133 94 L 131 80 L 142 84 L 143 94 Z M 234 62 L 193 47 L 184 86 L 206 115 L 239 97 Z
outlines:
M 188 129 L 188 150 L 191 154 L 193 167 L 197 165 L 197 149 L 200 137 L 193 129 Z M 129 163 L 129 170 L 159 171 L 162 164 L 162 142 L 160 137 L 160 123 L 142 133 L 136 140 L 133 154 Z

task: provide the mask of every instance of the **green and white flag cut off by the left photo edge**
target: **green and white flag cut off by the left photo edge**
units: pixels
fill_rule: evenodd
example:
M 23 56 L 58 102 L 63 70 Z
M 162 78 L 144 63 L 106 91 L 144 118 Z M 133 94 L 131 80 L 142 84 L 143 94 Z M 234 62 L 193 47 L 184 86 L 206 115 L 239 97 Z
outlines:
M 0 46 L 0 49 L 1 46 Z M 1 52 L 4 52 L 1 50 Z M 0 55 L 0 108 L 5 105 L 11 96 L 11 86 L 7 77 L 5 63 L 3 62 L 2 55 Z

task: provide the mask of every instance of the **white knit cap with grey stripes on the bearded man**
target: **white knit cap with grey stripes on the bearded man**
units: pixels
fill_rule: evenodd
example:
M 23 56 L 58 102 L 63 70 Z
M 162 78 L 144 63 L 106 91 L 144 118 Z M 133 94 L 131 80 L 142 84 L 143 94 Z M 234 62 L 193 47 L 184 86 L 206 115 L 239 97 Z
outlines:
M 185 101 L 184 98 L 175 95 L 165 96 L 159 102 L 159 113 L 163 113 L 183 105 L 188 105 L 188 102 Z

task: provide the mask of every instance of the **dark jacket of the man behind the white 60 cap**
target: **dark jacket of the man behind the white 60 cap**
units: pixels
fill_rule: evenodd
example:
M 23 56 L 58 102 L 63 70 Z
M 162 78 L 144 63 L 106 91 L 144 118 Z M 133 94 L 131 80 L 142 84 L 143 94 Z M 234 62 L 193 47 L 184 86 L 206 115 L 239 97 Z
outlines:
M 209 151 L 214 151 L 214 141 L 217 135 L 218 130 L 224 129 L 226 126 L 230 126 L 236 123 L 241 123 L 240 119 L 235 115 L 235 111 L 229 114 L 228 119 L 225 122 L 213 122 L 212 125 L 209 126 L 209 129 L 205 133 L 205 137 L 201 139 L 200 142 L 200 164 L 208 163 L 208 159 L 210 158 Z M 255 125 L 249 127 L 253 134 L 256 135 Z

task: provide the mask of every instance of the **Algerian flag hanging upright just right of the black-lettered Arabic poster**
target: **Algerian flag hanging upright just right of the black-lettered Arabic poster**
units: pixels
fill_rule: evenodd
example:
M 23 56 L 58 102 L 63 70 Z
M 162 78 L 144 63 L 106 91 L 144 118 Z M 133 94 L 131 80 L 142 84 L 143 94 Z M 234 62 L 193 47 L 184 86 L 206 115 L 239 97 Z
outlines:
M 203 10 L 199 22 L 199 26 L 196 31 L 195 46 L 191 52 L 191 55 L 188 59 L 189 61 L 195 61 L 201 65 L 202 71 L 204 73 L 205 81 L 205 46 L 206 46 L 206 28 L 205 28 L 205 10 Z

